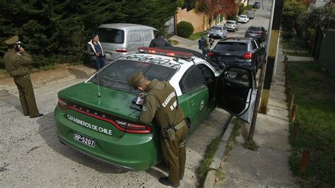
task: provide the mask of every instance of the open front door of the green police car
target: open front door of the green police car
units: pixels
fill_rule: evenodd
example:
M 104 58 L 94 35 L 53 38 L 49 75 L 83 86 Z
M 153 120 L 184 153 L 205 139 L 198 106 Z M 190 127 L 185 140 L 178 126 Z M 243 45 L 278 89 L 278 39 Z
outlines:
M 257 86 L 254 70 L 229 66 L 219 77 L 218 106 L 250 123 L 254 112 Z

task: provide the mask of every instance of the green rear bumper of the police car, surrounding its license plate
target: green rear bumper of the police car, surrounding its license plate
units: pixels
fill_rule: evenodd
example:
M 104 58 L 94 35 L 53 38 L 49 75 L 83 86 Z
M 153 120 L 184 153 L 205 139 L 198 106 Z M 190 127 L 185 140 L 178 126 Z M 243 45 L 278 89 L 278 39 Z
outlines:
M 153 133 L 125 133 L 119 138 L 102 134 L 69 121 L 69 119 L 64 117 L 59 107 L 54 110 L 54 119 L 57 125 L 57 137 L 60 141 L 91 158 L 109 163 L 116 168 L 122 170 L 146 170 L 163 159 L 159 137 Z M 95 147 L 92 148 L 76 141 L 74 139 L 75 131 L 78 134 L 94 139 Z

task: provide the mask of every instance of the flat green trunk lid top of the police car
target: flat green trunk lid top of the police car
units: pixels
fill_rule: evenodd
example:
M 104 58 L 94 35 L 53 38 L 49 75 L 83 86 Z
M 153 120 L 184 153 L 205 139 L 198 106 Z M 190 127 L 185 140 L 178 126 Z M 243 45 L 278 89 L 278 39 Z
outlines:
M 69 100 L 78 105 L 89 107 L 100 112 L 133 120 L 138 117 L 141 108 L 134 106 L 137 95 L 124 91 L 114 90 L 100 86 L 100 97 L 98 85 L 95 83 L 78 83 L 74 86 L 59 91 L 59 97 Z M 136 108 L 137 107 L 137 108 Z

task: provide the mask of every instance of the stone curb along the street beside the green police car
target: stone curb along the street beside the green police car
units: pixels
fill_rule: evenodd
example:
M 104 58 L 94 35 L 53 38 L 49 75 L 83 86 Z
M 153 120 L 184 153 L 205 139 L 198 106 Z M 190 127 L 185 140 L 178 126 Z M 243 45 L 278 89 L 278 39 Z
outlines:
M 233 116 L 232 116 L 232 118 L 233 118 Z M 225 133 L 223 134 L 223 136 L 221 137 L 221 142 L 218 145 L 218 150 L 216 151 L 216 153 L 214 155 L 214 158 L 211 162 L 211 165 L 209 166 L 209 168 L 212 169 L 212 170 L 209 170 L 207 172 L 206 179 L 205 179 L 205 182 L 204 182 L 204 188 L 214 187 L 215 180 L 216 180 L 216 175 L 215 175 L 216 174 L 216 169 L 220 168 L 221 160 L 222 160 L 223 155 L 225 153 L 225 146 L 226 146 L 227 141 L 230 137 L 230 134 L 233 131 L 234 124 L 232 124 L 230 122 L 232 118 L 230 118 L 229 121 L 228 121 L 229 122 L 228 127 L 225 130 Z

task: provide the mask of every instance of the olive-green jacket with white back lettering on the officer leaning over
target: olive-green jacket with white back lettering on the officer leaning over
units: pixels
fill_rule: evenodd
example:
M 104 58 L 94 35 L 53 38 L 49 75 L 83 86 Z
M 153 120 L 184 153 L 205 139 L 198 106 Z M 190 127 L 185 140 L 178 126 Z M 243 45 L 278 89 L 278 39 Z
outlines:
M 148 86 L 146 99 L 144 100 L 141 122 L 150 123 L 153 119 L 160 126 L 174 126 L 184 119 L 184 113 L 177 104 L 175 89 L 165 81 L 153 79 Z

